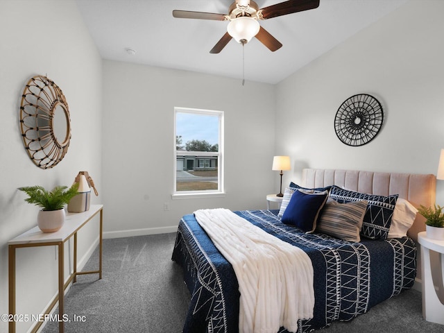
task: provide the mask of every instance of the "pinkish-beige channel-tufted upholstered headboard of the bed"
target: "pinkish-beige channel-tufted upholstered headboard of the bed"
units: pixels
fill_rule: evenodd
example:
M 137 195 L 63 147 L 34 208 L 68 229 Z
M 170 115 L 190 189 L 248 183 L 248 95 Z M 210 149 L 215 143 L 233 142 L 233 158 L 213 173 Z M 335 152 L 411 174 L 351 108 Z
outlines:
M 303 169 L 302 186 L 325 187 L 337 185 L 352 191 L 379 196 L 399 194 L 415 207 L 432 206 L 436 198 L 436 177 L 432 174 L 386 173 L 355 170 Z M 420 214 L 407 233 L 414 241 L 418 232 L 425 230 L 425 219 Z

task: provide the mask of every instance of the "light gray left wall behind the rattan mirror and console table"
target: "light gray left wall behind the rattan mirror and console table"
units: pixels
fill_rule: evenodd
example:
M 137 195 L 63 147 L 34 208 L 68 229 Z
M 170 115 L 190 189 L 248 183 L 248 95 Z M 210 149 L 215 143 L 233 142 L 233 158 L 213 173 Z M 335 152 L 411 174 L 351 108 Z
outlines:
M 101 180 L 101 58 L 74 1 L 0 1 L 0 313 L 8 313 L 9 239 L 37 225 L 38 207 L 24 201 L 17 187 L 71 185 L 87 170 Z M 29 78 L 47 75 L 62 89 L 71 113 L 71 145 L 65 159 L 43 170 L 31 162 L 19 130 L 19 106 Z M 106 214 L 106 213 L 105 213 Z M 78 237 L 78 261 L 90 255 L 97 223 Z M 72 243 L 66 244 L 66 251 Z M 72 253 L 71 253 L 72 255 Z M 71 264 L 66 258 L 66 271 Z M 17 313 L 40 314 L 57 292 L 55 247 L 17 251 Z M 31 323 L 17 323 L 26 332 Z M 0 322 L 0 332 L 7 332 Z

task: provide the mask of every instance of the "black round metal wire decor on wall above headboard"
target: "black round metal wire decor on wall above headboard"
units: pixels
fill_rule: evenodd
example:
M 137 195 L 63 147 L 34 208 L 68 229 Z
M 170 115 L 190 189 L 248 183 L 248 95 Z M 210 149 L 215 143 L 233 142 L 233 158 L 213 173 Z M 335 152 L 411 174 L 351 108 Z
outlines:
M 357 94 L 346 99 L 334 117 L 334 131 L 348 146 L 363 146 L 375 138 L 384 121 L 382 105 L 375 97 Z

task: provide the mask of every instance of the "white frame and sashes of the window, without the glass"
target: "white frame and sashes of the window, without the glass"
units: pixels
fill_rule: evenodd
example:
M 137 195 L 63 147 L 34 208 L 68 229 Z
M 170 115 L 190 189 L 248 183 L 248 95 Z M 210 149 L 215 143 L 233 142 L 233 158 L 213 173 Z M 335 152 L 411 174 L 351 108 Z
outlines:
M 191 114 L 205 114 L 205 115 L 212 115 L 219 117 L 219 151 L 176 151 L 176 115 L 180 113 L 191 113 Z M 205 109 L 196 109 L 196 108 L 182 108 L 182 107 L 175 107 L 174 108 L 174 137 L 173 137 L 173 144 L 174 144 L 174 162 L 173 162 L 173 194 L 171 195 L 171 198 L 173 199 L 184 199 L 184 198 L 208 198 L 209 196 L 225 196 L 224 191 L 224 151 L 223 151 L 223 140 L 224 140 L 224 121 L 223 121 L 224 112 L 223 111 L 216 111 L 216 110 L 205 110 Z M 214 190 L 205 190 L 205 191 L 177 191 L 176 188 L 176 174 L 177 174 L 177 156 L 214 156 L 217 155 L 218 157 L 218 189 Z

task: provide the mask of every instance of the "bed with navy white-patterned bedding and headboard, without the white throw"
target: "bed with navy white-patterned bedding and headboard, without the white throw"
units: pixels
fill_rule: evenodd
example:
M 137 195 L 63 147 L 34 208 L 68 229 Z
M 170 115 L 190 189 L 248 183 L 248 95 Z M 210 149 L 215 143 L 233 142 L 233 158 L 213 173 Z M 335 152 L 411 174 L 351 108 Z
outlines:
M 282 205 L 287 204 L 289 211 L 289 201 L 294 193 L 300 195 L 302 192 L 307 195 L 305 198 L 309 194 L 325 193 L 323 190 L 327 189 L 327 198 L 319 211 L 321 215 L 316 215 L 316 221 L 327 216 L 325 210 L 329 202 L 328 207 L 332 207 L 332 204 L 349 205 L 364 200 L 368 203 L 366 207 L 370 207 L 370 203 L 377 202 L 379 205 L 380 199 L 384 210 L 391 207 L 391 210 L 377 213 L 384 215 L 392 214 L 400 199 L 408 200 L 407 204 L 415 207 L 433 205 L 435 187 L 434 175 L 304 169 L 301 185 L 290 184 Z M 375 206 L 371 206 L 372 209 Z M 416 268 L 419 267 L 416 263 L 416 235 L 425 229 L 419 214 L 413 216 L 413 225 L 405 237 L 387 237 L 387 232 L 391 232 L 388 231 L 390 225 L 376 225 L 375 228 L 367 225 L 367 234 L 362 234 L 366 227 L 359 227 L 361 237 L 357 241 L 348 240 L 348 236 L 337 238 L 342 234 L 337 236 L 328 229 L 321 229 L 323 223 L 309 233 L 302 227 L 282 223 L 285 209 L 282 210 L 281 206 L 280 210 L 245 210 L 234 214 L 280 241 L 303 250 L 311 260 L 313 316 L 299 319 L 297 332 L 317 330 L 337 320 L 350 321 L 379 302 L 413 286 Z M 366 208 L 365 216 L 370 213 Z M 362 225 L 366 224 L 365 219 Z M 387 220 L 386 217 L 384 219 Z M 232 264 L 196 220 L 195 214 L 187 214 L 180 220 L 172 259 L 182 266 L 184 280 L 191 293 L 182 332 L 239 332 L 237 275 Z M 292 330 L 294 332 L 294 328 Z M 289 331 L 282 326 L 274 332 Z

